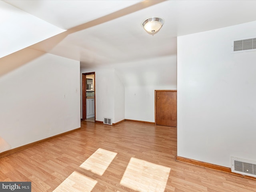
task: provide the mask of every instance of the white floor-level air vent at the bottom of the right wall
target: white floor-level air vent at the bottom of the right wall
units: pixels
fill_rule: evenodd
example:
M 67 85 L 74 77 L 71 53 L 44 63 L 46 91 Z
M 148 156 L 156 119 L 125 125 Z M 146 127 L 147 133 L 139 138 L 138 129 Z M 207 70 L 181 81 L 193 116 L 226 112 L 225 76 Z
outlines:
M 231 171 L 242 175 L 256 177 L 256 162 L 231 157 Z

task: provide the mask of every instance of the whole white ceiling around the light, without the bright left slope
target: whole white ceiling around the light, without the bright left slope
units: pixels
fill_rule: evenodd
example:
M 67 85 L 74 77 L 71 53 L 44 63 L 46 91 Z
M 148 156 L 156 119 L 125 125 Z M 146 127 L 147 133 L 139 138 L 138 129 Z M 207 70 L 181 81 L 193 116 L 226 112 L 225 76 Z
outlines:
M 138 0 L 4 2 L 31 14 L 33 18 L 40 18 L 56 26 L 57 29 L 67 30 L 66 35 L 53 47 L 47 47 L 49 42 L 53 42 L 49 40 L 32 48 L 80 60 L 82 67 L 170 56 L 176 54 L 177 36 L 256 20 L 255 0 L 150 0 L 155 4 L 147 8 L 142 8 L 147 2 Z M 129 6 L 131 8 L 126 9 Z M 118 12 L 121 9 L 124 9 L 121 11 L 124 14 Z M 113 12 L 117 14 L 113 17 L 106 16 Z M 154 36 L 147 34 L 141 27 L 141 22 L 152 16 L 165 20 L 160 32 Z M 96 24 L 90 23 L 93 20 Z M 28 19 L 26 21 L 30 22 Z M 81 28 L 76 28 L 78 25 L 82 25 Z M 18 31 L 16 34 L 19 35 Z M 23 48 L 26 46 L 28 45 L 24 44 Z

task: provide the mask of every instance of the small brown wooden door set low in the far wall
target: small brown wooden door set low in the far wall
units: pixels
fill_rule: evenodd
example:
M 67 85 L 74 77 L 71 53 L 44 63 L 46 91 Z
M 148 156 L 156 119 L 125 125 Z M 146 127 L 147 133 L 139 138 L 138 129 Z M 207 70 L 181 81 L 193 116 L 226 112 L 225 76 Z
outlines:
M 155 90 L 155 122 L 177 126 L 177 90 Z

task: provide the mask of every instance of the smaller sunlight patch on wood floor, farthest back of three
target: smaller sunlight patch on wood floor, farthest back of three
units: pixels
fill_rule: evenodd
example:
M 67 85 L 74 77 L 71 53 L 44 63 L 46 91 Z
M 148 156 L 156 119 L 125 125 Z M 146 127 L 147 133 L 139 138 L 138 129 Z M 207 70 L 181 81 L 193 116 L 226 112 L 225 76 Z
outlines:
M 80 167 L 102 176 L 116 154 L 116 152 L 98 148 Z

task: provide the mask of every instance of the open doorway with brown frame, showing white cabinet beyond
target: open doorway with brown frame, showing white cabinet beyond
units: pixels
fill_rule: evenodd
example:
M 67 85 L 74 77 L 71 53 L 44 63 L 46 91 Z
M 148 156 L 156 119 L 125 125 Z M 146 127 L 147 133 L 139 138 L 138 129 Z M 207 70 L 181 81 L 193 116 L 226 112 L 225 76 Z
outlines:
M 95 122 L 95 72 L 82 73 L 82 120 Z

